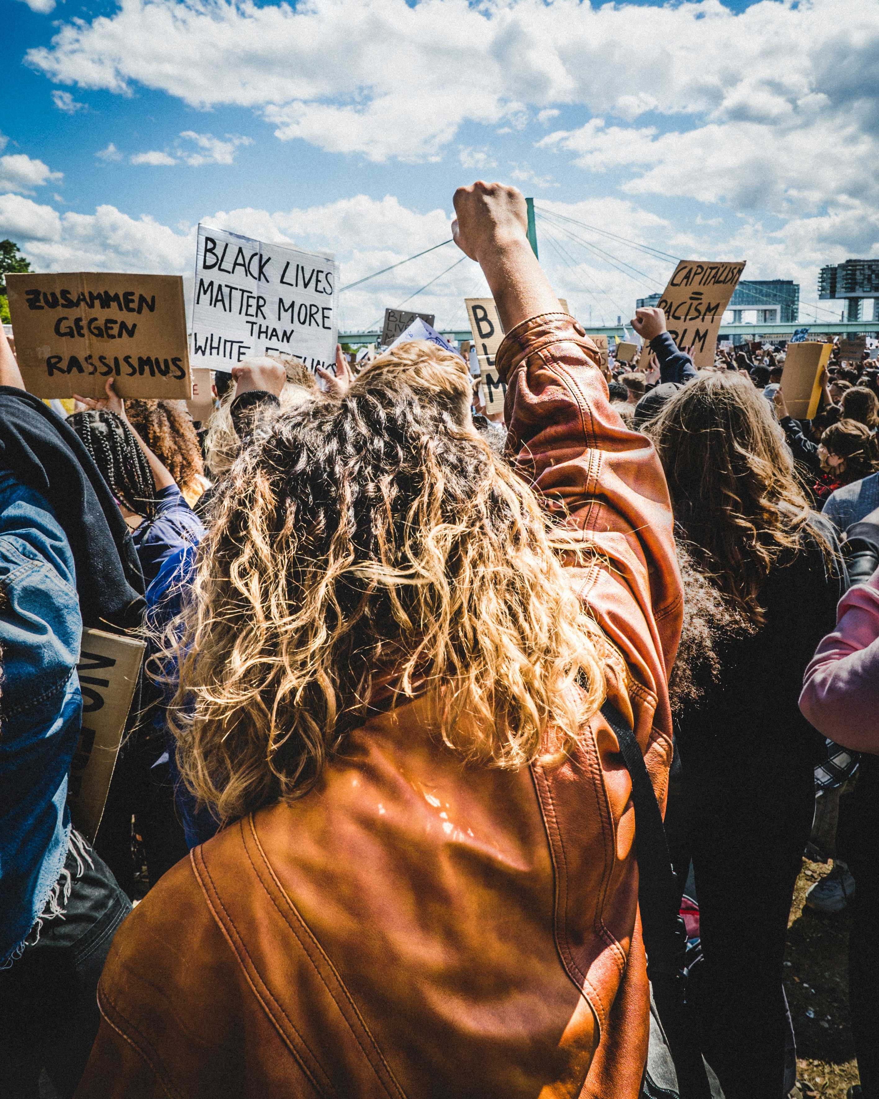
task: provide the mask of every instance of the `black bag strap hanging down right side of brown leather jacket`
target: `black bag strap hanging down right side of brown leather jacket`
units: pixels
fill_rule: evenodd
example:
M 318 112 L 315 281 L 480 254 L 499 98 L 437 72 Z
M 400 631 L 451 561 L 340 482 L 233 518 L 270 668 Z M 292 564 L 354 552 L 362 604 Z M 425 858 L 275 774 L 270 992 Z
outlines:
M 638 907 L 647 976 L 668 1039 L 681 1099 L 710 1099 L 711 1086 L 687 1011 L 687 929 L 680 914 L 677 876 L 671 868 L 663 814 L 635 734 L 612 702 L 601 714 L 620 743 L 632 779 L 638 858 Z

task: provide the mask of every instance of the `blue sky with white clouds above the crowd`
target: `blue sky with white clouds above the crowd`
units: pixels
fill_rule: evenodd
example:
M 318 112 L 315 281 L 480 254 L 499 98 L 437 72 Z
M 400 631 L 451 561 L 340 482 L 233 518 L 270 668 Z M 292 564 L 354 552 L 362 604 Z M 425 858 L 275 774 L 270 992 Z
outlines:
M 675 256 L 746 259 L 803 302 L 823 263 L 879 256 L 879 0 L 2 11 L 0 237 L 38 270 L 190 274 L 204 221 L 333 249 L 344 286 L 446 240 L 479 177 L 534 197 L 541 258 L 596 324 Z M 436 278 L 411 308 L 464 328 L 485 284 L 444 274 L 459 256 L 343 293 L 343 326 Z

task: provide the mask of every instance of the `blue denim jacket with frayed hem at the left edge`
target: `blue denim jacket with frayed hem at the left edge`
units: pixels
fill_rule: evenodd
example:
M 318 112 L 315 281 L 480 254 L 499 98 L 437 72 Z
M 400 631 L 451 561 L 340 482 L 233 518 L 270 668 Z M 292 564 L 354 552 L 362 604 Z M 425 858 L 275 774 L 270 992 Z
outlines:
M 82 699 L 74 558 L 45 499 L 0 471 L 0 966 L 64 866 Z

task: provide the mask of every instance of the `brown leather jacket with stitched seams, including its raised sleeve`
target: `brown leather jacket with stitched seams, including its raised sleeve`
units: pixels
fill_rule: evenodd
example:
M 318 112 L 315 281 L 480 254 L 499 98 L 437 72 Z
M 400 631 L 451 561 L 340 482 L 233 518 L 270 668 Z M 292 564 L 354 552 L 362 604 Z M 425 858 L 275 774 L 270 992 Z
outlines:
M 681 595 L 663 471 L 565 314 L 498 356 L 519 468 L 603 557 L 570 569 L 656 792 Z M 120 929 L 78 1099 L 635 1099 L 648 990 L 630 782 L 598 715 L 561 766 L 464 767 L 424 699 L 321 785 L 196 848 Z

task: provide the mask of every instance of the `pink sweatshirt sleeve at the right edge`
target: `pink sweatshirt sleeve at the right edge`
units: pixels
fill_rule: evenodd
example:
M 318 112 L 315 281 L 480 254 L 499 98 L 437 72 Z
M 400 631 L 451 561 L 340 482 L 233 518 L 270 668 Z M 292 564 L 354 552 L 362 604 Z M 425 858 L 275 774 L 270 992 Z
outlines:
M 879 569 L 843 596 L 805 669 L 800 709 L 844 747 L 879 754 Z

